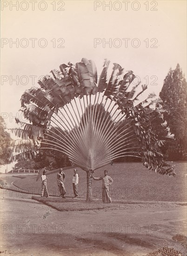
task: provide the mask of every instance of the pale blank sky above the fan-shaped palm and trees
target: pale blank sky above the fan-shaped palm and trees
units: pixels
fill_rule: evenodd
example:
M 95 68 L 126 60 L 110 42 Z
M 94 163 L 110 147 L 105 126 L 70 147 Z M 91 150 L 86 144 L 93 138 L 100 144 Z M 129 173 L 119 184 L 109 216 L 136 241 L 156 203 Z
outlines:
M 156 94 L 170 67 L 179 63 L 186 76 L 185 0 L 17 2 L 1 1 L 0 113 L 8 128 L 16 127 L 21 94 L 68 61 L 92 59 L 100 74 L 107 58 L 111 67 L 133 70 Z

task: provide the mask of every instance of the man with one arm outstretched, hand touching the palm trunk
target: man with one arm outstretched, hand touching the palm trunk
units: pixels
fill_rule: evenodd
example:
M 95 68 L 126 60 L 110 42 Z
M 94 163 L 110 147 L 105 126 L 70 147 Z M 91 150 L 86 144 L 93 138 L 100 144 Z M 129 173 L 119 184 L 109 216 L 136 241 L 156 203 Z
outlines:
M 93 176 L 92 176 L 93 177 Z M 103 181 L 102 184 L 102 201 L 107 203 L 107 202 L 112 202 L 110 193 L 109 193 L 109 186 L 113 183 L 113 179 L 108 176 L 107 170 L 104 171 L 104 176 L 95 178 L 93 177 L 93 180 L 95 181 Z

